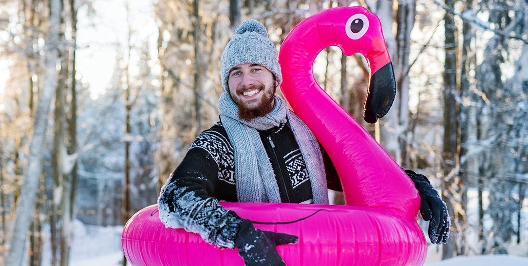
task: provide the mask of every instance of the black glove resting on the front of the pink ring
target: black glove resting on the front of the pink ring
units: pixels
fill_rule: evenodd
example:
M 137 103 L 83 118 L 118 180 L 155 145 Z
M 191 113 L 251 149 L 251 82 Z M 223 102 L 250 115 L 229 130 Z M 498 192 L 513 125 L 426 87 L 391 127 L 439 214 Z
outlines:
M 262 231 L 253 227 L 246 219 L 240 224 L 237 239 L 234 242 L 238 254 L 246 266 L 286 266 L 277 252 L 278 245 L 295 244 L 299 238 L 295 235 Z

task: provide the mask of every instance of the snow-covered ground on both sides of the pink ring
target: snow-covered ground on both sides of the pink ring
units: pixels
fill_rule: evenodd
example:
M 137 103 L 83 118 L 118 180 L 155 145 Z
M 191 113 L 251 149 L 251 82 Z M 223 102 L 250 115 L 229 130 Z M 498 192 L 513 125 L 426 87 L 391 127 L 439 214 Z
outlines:
M 49 228 L 49 227 L 48 227 Z M 93 226 L 75 222 L 75 231 L 70 255 L 71 266 L 120 266 L 122 226 Z M 48 234 L 49 235 L 49 234 Z M 49 242 L 48 242 L 49 243 Z M 43 266 L 49 266 L 51 252 L 45 246 Z M 426 266 L 526 266 L 528 265 L 528 242 L 507 245 L 510 255 L 459 256 L 441 261 L 442 249 L 429 245 Z

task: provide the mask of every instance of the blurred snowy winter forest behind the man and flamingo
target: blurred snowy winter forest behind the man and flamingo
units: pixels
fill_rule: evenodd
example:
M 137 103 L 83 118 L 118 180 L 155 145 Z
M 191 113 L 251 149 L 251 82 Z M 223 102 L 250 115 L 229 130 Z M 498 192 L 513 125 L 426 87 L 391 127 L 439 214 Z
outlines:
M 366 124 L 362 55 L 327 48 L 314 75 L 441 193 L 451 234 L 429 255 L 528 257 L 526 0 L 1 0 L 0 265 L 66 266 L 76 227 L 122 230 L 219 120 L 234 29 L 258 20 L 280 53 L 336 6 L 378 15 L 397 97 Z

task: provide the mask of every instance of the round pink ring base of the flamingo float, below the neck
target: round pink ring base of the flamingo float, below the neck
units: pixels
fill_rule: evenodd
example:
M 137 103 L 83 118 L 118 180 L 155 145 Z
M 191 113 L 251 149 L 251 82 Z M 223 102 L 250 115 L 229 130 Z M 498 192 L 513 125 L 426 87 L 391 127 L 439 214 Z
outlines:
M 416 221 L 382 210 L 355 206 L 222 203 L 243 218 L 292 224 L 261 225 L 261 230 L 294 234 L 299 243 L 277 246 L 288 266 L 297 265 L 421 265 L 427 245 Z M 183 229 L 166 229 L 157 206 L 131 217 L 122 238 L 123 251 L 135 266 L 244 265 L 237 250 L 219 249 L 199 235 Z

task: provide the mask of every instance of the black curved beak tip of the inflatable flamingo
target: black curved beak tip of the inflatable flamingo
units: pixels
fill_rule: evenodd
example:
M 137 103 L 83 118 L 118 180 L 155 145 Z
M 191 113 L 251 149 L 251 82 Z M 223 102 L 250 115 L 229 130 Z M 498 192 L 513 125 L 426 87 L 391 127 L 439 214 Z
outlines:
M 365 100 L 363 118 L 374 124 L 389 111 L 396 96 L 396 80 L 392 62 L 385 64 L 371 75 Z

